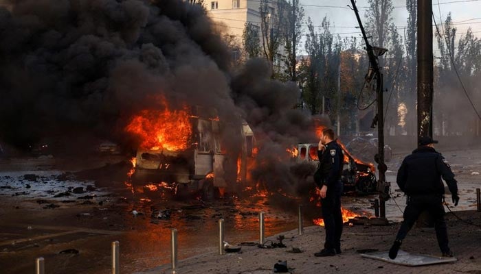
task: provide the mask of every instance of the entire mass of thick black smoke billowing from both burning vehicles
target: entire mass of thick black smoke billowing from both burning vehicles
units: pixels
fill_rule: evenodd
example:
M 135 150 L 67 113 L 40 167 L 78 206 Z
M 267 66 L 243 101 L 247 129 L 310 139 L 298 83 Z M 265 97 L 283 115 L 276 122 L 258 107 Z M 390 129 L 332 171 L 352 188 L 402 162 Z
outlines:
M 180 0 L 12 0 L 0 8 L 0 140 L 25 148 L 43 138 L 72 145 L 107 138 L 135 146 L 133 114 L 183 103 L 216 108 L 227 147 L 241 118 L 258 140 L 254 179 L 295 178 L 286 148 L 317 142 L 313 117 L 293 109 L 295 84 L 269 79 L 251 60 L 230 71 L 230 50 L 199 5 Z M 238 146 L 237 146 L 238 147 Z M 227 151 L 230 151 L 227 149 Z M 238 151 L 232 150 L 234 155 Z

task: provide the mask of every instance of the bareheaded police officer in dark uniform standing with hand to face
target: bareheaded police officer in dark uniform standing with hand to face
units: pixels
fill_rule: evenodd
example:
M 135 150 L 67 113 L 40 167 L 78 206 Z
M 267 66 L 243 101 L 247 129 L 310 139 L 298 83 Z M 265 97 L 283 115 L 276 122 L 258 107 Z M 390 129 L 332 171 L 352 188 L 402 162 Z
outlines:
M 334 256 L 336 253 L 341 253 L 341 173 L 344 158 L 341 147 L 334 139 L 333 129 L 322 131 L 317 155 L 320 165 L 315 173 L 315 183 L 320 188 L 326 242 L 324 242 L 324 249 L 315 253 L 314 256 Z

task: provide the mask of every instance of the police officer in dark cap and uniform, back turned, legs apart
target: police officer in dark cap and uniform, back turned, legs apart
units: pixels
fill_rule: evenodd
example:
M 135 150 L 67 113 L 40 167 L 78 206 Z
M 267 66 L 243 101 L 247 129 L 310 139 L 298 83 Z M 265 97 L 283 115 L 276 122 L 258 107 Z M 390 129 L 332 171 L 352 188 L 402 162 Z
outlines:
M 403 239 L 418 219 L 421 212 L 427 210 L 434 218 L 434 228 L 438 245 L 445 257 L 452 257 L 448 246 L 443 196 L 445 187 L 441 177 L 451 192 L 454 206 L 458 206 L 458 185 L 451 167 L 445 158 L 434 149 L 438 143 L 429 136 L 419 139 L 418 149 L 404 158 L 397 173 L 397 184 L 407 195 L 407 206 L 404 210 L 404 221 L 399 228 L 396 240 L 389 251 L 391 259 L 396 258 Z

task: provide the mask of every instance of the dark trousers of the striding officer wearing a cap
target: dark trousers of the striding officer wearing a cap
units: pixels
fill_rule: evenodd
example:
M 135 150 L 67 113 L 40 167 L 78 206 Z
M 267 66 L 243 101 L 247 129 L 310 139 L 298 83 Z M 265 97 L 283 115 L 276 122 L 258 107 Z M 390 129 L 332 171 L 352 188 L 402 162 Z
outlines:
M 411 196 L 407 201 L 407 206 L 404 210 L 404 221 L 399 228 L 396 240 L 403 240 L 407 232 L 410 231 L 419 215 L 427 210 L 429 216 L 434 219 L 434 229 L 436 229 L 436 237 L 438 238 L 438 245 L 441 252 L 447 253 L 449 251 L 447 240 L 447 228 L 445 222 L 445 209 L 443 207 L 443 197 L 440 195 L 419 195 Z

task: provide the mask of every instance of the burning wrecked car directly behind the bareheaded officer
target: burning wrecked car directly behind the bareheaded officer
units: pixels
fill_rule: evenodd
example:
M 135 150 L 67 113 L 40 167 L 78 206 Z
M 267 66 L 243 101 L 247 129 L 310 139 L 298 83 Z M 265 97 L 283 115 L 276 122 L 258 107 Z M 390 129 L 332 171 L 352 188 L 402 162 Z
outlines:
M 344 155 L 344 168 L 342 170 L 344 193 L 355 192 L 358 195 L 366 195 L 377 192 L 374 166 L 354 158 L 342 143 L 338 143 L 342 147 Z M 318 144 L 299 144 L 298 153 L 296 153 L 297 160 L 299 162 L 309 162 L 317 168 L 319 165 L 319 159 L 317 158 L 318 147 Z

